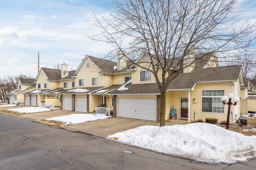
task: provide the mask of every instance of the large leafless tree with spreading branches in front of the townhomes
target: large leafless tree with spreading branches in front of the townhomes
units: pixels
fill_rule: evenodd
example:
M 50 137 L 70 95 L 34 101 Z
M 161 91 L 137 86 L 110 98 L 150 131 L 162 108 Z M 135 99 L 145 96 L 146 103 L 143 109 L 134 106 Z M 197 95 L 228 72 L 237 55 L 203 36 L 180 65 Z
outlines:
M 100 31 L 87 37 L 113 47 L 109 60 L 119 50 L 135 66 L 152 72 L 161 93 L 160 126 L 165 126 L 167 88 L 184 68 L 210 53 L 224 60 L 230 51 L 254 42 L 254 23 L 245 20 L 235 27 L 243 12 L 235 10 L 237 5 L 238 0 L 113 0 L 106 15 L 92 10 Z M 150 59 L 134 62 L 142 53 Z M 191 62 L 184 66 L 187 59 Z

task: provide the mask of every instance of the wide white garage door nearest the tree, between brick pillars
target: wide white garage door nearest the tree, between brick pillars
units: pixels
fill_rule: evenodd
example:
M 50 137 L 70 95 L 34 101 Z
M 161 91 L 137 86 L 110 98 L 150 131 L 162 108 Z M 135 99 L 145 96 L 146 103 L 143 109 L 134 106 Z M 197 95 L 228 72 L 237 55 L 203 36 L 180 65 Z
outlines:
M 118 116 L 156 121 L 156 99 L 118 98 Z

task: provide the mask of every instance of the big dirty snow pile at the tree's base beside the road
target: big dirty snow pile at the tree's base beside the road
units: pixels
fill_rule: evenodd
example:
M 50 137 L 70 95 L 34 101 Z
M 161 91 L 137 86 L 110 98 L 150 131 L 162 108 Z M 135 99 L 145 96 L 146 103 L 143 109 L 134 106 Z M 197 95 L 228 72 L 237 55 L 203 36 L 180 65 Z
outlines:
M 140 126 L 109 135 L 106 139 L 189 159 L 195 163 L 224 166 L 256 157 L 255 135 L 245 136 L 207 123 L 161 128 Z

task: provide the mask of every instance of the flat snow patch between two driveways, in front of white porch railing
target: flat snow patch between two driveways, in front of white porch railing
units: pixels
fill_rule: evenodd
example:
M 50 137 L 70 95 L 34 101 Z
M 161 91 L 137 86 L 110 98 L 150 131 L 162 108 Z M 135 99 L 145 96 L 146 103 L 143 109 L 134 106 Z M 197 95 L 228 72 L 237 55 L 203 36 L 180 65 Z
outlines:
M 96 121 L 101 119 L 108 119 L 111 116 L 106 116 L 104 114 L 71 114 L 71 115 L 65 115 L 65 116 L 59 116 L 59 117 L 51 117 L 46 119 L 46 121 L 60 121 L 65 122 L 63 125 L 67 126 L 68 124 L 79 124 L 84 123 L 88 121 Z

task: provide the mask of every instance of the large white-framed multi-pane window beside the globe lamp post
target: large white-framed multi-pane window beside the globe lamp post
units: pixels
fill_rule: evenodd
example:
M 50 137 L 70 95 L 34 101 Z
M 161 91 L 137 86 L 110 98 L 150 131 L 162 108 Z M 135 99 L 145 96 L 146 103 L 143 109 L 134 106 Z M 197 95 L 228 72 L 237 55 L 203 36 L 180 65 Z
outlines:
M 202 112 L 225 113 L 221 97 L 224 90 L 202 90 Z

